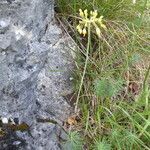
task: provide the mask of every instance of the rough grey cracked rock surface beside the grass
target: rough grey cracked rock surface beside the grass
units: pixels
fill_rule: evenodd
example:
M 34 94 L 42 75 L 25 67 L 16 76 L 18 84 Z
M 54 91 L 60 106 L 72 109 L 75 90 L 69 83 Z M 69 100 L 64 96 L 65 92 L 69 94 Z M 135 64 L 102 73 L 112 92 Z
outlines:
M 71 112 L 69 38 L 54 20 L 53 0 L 0 0 L 0 116 L 28 131 L 0 136 L 1 150 L 59 150 L 57 132 Z M 5 128 L 7 125 L 3 125 Z

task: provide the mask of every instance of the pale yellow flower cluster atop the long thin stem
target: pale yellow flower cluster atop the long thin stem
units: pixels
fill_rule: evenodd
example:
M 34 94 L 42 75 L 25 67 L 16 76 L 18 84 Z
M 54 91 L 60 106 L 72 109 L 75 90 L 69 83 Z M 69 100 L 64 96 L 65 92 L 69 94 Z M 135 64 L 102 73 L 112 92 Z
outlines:
M 91 11 L 89 15 L 87 9 L 84 11 L 79 9 L 79 16 L 80 21 L 76 28 L 80 34 L 83 34 L 83 36 L 87 34 L 87 28 L 89 26 L 90 27 L 93 26 L 95 28 L 98 37 L 100 37 L 101 35 L 100 28 L 106 29 L 106 26 L 102 22 L 103 16 L 97 17 L 98 16 L 97 10 Z

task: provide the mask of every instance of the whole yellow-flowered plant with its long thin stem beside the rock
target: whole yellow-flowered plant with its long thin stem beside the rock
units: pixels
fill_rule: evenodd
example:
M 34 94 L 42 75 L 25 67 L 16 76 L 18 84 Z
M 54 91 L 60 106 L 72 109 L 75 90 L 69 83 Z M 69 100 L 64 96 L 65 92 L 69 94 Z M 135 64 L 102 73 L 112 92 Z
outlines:
M 87 9 L 85 9 L 84 11 L 79 9 L 79 16 L 80 16 L 80 18 L 79 18 L 80 20 L 79 20 L 79 24 L 76 27 L 76 29 L 83 36 L 88 34 L 88 43 L 87 43 L 87 48 L 86 48 L 86 60 L 85 60 L 85 65 L 84 65 L 84 71 L 83 71 L 81 84 L 79 87 L 77 101 L 76 101 L 76 105 L 75 105 L 75 112 L 77 111 L 80 92 L 82 89 L 83 80 L 84 80 L 84 76 L 85 76 L 86 68 L 87 68 L 87 64 L 88 64 L 88 59 L 89 59 L 89 51 L 90 51 L 90 43 L 91 43 L 91 37 L 90 37 L 91 29 L 93 29 L 93 28 L 95 29 L 98 37 L 101 36 L 101 28 L 106 29 L 106 26 L 102 22 L 103 16 L 98 17 L 97 10 L 90 11 L 90 14 L 88 14 Z

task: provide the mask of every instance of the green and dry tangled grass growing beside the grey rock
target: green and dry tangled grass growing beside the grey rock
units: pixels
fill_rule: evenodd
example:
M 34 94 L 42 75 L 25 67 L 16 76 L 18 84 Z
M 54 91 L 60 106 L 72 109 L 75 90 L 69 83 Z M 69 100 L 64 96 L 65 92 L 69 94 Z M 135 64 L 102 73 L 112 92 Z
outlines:
M 73 150 L 83 147 L 149 150 L 150 2 L 58 0 L 56 3 L 58 16 L 80 48 L 76 50 L 77 67 L 73 74 L 80 122 L 72 135 L 80 133 L 81 140 L 77 140 L 78 134 L 69 133 L 67 143 L 76 141 Z M 79 8 L 96 9 L 104 16 L 107 30 L 102 30 L 100 38 L 93 29 L 90 36 L 77 33 Z

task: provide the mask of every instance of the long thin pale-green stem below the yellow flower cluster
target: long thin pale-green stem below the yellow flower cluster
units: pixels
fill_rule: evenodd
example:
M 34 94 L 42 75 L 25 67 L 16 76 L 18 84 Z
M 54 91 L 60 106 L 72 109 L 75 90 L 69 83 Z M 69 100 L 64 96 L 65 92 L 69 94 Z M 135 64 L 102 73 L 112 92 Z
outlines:
M 86 69 L 87 69 L 87 64 L 88 64 L 88 60 L 89 60 L 89 51 L 90 51 L 90 43 L 91 43 L 91 35 L 90 35 L 91 29 L 90 28 L 91 27 L 89 24 L 89 26 L 88 26 L 88 43 L 87 43 L 87 49 L 86 49 L 86 60 L 85 60 L 84 71 L 83 71 L 83 75 L 81 78 L 81 83 L 80 83 L 80 87 L 79 87 L 79 91 L 78 91 L 78 95 L 77 95 L 77 100 L 76 100 L 76 104 L 75 104 L 75 113 L 77 113 L 80 93 L 81 93 L 81 89 L 82 89 L 82 85 L 83 85 L 83 81 L 84 81 L 84 77 L 85 77 L 85 73 L 86 73 Z

